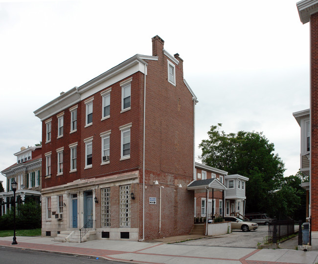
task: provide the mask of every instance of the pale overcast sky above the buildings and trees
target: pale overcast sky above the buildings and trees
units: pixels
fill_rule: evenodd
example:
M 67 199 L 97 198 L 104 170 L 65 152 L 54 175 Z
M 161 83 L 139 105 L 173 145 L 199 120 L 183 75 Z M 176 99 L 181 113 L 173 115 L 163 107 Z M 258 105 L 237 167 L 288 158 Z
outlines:
M 298 171 L 292 113 L 309 108 L 310 62 L 309 23 L 294 0 L 0 0 L 0 171 L 40 142 L 34 110 L 137 53 L 152 55 L 155 35 L 180 54 L 198 97 L 196 146 L 217 123 L 226 133 L 264 132 L 285 176 Z

